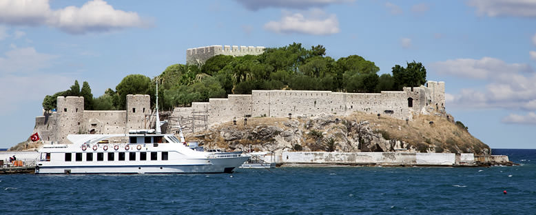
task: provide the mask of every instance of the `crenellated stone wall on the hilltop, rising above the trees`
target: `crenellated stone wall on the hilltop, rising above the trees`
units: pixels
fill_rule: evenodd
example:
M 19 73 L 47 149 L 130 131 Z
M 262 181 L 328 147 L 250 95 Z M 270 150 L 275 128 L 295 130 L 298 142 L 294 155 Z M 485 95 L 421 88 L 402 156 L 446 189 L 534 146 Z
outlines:
M 233 57 L 244 56 L 247 54 L 258 55 L 265 52 L 265 47 L 263 46 L 245 46 L 240 45 L 210 45 L 200 48 L 189 48 L 186 50 L 186 64 L 202 64 L 205 63 L 209 58 L 214 57 L 219 54 L 230 55 Z

